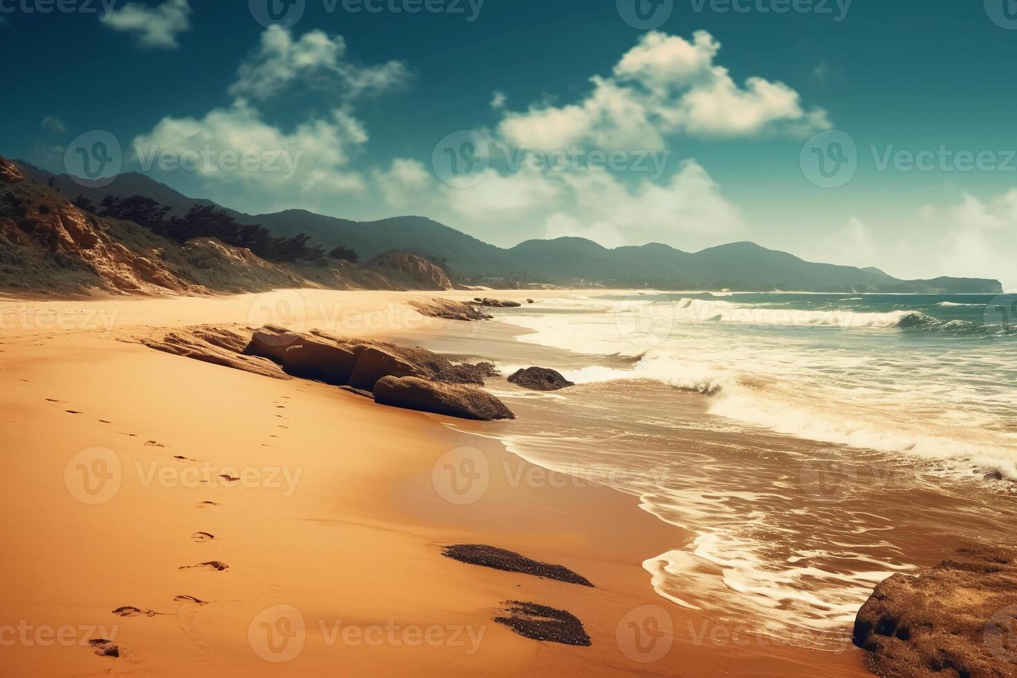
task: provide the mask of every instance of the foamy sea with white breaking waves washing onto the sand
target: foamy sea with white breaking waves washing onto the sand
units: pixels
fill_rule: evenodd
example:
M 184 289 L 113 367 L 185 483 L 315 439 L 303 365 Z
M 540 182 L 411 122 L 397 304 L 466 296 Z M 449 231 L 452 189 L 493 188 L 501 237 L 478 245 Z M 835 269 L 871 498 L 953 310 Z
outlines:
M 897 573 L 1017 534 L 1017 295 L 560 293 L 437 350 L 549 367 L 488 384 L 510 450 L 680 528 L 675 605 L 838 650 Z

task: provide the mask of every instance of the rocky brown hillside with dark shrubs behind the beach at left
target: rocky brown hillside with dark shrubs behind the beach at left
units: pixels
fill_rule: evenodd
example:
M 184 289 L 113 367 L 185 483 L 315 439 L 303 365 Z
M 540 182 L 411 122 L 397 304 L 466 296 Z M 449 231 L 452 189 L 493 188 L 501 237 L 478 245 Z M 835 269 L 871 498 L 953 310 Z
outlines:
M 390 254 L 366 266 L 325 257 L 270 261 L 208 232 L 189 233 L 181 242 L 131 221 L 97 215 L 70 202 L 56 181 L 50 185 L 40 178 L 45 177 L 0 158 L 0 293 L 80 297 L 313 287 L 452 289 L 443 270 L 409 254 Z M 132 179 L 121 184 L 131 194 L 152 188 Z M 167 187 L 157 194 L 170 200 L 179 195 Z M 101 199 L 99 193 L 93 196 Z M 181 207 L 186 212 L 190 204 Z M 266 256 L 279 253 L 270 250 Z

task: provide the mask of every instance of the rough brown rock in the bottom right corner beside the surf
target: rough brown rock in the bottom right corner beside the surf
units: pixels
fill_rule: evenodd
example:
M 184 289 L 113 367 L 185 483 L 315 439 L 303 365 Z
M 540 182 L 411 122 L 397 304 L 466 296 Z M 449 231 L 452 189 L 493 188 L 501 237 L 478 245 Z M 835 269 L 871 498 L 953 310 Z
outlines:
M 974 545 L 894 574 L 858 611 L 854 643 L 884 678 L 1017 676 L 1017 551 Z

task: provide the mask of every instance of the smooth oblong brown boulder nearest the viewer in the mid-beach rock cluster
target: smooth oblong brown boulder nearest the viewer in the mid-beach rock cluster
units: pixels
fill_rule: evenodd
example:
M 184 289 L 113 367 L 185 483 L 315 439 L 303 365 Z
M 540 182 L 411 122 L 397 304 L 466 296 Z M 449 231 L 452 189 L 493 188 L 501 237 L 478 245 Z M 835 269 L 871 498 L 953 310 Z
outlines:
M 515 419 L 501 400 L 476 386 L 446 384 L 417 377 L 384 377 L 374 384 L 374 402 L 436 415 L 493 421 Z

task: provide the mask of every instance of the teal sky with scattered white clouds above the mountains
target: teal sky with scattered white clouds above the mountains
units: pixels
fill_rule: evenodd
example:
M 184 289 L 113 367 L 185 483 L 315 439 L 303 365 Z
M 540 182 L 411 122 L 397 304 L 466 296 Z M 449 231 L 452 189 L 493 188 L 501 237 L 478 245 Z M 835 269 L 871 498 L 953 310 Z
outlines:
M 1011 0 L 0 0 L 0 155 L 1017 288 Z

